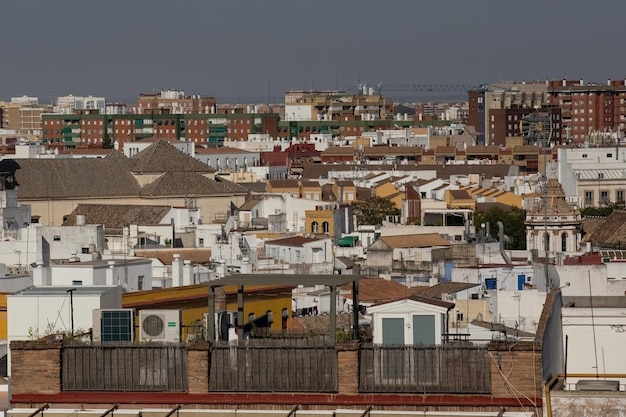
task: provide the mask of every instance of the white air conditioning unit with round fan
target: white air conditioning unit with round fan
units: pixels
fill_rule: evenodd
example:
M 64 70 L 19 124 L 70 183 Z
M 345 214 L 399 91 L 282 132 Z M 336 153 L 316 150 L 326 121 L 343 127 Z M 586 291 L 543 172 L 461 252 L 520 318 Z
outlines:
M 139 311 L 139 340 L 142 342 L 179 342 L 180 310 Z

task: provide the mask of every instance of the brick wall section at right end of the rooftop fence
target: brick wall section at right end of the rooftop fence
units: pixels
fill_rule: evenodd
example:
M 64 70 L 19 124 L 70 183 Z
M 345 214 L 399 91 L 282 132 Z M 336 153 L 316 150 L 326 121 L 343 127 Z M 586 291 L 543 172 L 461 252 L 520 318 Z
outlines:
M 533 346 L 533 342 L 492 342 L 489 357 L 494 397 L 542 397 L 540 347 Z

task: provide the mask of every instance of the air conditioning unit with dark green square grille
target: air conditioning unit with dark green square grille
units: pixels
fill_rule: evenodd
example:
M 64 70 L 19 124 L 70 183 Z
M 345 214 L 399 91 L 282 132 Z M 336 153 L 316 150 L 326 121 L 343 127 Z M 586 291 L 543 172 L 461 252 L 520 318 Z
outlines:
M 134 341 L 135 315 L 132 308 L 95 309 L 92 318 L 94 342 Z

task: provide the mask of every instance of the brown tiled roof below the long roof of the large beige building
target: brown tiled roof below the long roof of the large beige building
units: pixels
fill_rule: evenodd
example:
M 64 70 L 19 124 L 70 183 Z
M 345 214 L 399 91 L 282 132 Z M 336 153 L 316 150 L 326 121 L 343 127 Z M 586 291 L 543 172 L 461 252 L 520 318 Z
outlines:
M 63 226 L 75 226 L 76 216 L 83 215 L 87 224 L 102 224 L 107 234 L 118 234 L 124 224 L 159 224 L 170 210 L 170 206 L 79 204 L 63 222 Z

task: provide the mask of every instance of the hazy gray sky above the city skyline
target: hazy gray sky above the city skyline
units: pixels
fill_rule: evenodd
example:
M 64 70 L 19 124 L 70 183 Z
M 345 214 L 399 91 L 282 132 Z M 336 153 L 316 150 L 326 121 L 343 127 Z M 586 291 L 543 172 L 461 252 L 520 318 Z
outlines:
M 626 1 L 14 0 L 0 98 L 626 77 Z

